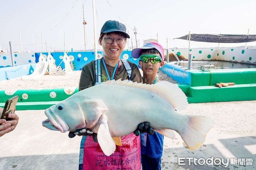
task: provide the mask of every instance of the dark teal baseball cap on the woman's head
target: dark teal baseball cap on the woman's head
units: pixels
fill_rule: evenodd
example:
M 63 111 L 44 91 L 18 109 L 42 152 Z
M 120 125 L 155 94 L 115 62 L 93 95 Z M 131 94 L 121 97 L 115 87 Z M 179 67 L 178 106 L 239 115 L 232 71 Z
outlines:
M 109 33 L 109 32 L 122 32 L 126 35 L 127 38 L 130 38 L 130 36 L 126 33 L 126 27 L 124 24 L 119 23 L 116 20 L 108 20 L 104 23 L 102 26 L 102 29 L 100 31 L 100 35 L 102 33 Z

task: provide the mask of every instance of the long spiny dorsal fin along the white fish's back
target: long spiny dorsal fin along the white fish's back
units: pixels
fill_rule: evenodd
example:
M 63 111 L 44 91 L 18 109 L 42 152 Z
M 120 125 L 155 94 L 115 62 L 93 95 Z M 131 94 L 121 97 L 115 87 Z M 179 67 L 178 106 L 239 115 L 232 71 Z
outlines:
M 156 84 L 142 84 L 137 82 L 131 82 L 128 80 L 121 81 L 111 80 L 102 83 L 102 85 L 120 85 L 120 86 L 130 86 L 134 88 L 140 88 L 152 92 L 156 95 L 159 95 L 161 98 L 166 100 L 169 104 L 172 105 L 174 109 L 184 109 L 187 105 L 187 97 L 182 92 L 177 84 L 170 83 L 168 81 L 160 81 Z

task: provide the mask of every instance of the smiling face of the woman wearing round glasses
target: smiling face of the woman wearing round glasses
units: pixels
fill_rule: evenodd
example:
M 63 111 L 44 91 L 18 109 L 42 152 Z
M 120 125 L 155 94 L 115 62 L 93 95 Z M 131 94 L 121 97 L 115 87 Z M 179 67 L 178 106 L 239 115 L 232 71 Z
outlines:
M 100 45 L 102 46 L 103 48 L 103 51 L 104 51 L 104 58 L 105 59 L 118 59 L 122 53 L 122 51 L 124 50 L 125 48 L 125 43 L 126 43 L 126 40 L 125 40 L 125 43 L 123 43 L 122 45 L 119 45 L 116 43 L 116 39 L 113 39 L 113 43 L 111 44 L 108 44 L 105 42 L 104 38 L 105 37 L 112 37 L 112 38 L 118 38 L 118 37 L 122 37 L 122 38 L 126 38 L 124 37 L 123 35 L 121 34 L 118 34 L 118 33 L 115 33 L 115 32 L 112 32 L 110 33 L 109 35 L 104 35 L 102 40 L 100 41 Z

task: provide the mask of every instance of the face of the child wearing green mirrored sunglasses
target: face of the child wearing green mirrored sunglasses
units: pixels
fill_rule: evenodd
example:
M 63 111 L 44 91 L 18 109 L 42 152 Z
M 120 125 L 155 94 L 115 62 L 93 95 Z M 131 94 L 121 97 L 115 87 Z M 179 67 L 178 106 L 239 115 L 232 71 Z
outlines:
M 160 54 L 151 54 L 151 53 L 141 53 L 141 55 L 159 55 Z M 143 63 L 142 61 L 139 61 L 139 65 L 143 71 L 143 74 L 145 75 L 156 75 L 159 68 L 163 66 L 163 61 L 160 63 L 151 63 L 151 60 L 148 60 L 147 63 Z

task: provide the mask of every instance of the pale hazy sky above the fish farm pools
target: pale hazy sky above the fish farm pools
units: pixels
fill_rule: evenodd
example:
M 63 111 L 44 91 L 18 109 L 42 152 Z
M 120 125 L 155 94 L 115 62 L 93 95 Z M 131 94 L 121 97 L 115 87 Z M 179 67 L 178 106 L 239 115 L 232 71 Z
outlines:
M 0 48 L 23 52 L 83 50 L 84 18 L 87 22 L 86 49 L 93 49 L 92 0 L 0 0 Z M 256 35 L 255 0 L 95 0 L 96 39 L 107 20 L 124 23 L 135 46 L 153 38 L 164 47 L 188 48 L 187 40 L 173 39 L 189 33 Z M 20 36 L 19 36 L 20 32 Z M 64 40 L 65 34 L 65 40 Z M 126 43 L 126 48 L 128 48 Z M 37 45 L 38 44 L 38 45 Z M 65 45 L 64 45 L 65 44 Z M 245 43 L 220 43 L 220 47 L 244 46 Z M 256 46 L 256 42 L 247 43 Z M 98 49 L 100 48 L 97 43 Z M 190 42 L 191 48 L 213 48 L 218 43 Z

